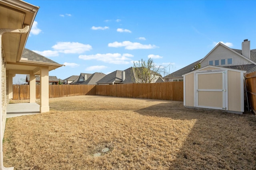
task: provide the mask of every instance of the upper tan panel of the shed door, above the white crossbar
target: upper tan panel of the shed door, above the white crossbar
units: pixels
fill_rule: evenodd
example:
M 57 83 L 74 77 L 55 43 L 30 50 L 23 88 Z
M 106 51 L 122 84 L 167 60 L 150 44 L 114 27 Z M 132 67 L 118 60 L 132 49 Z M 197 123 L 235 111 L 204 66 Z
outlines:
M 222 73 L 199 74 L 198 89 L 222 89 Z

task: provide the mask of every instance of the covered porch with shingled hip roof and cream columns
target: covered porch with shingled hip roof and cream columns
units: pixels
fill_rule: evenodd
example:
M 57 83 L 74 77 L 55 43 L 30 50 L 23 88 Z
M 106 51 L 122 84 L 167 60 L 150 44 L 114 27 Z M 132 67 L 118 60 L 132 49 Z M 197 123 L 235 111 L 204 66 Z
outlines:
M 36 102 L 36 75 L 40 76 L 40 113 L 49 111 L 49 71 L 62 64 L 58 64 L 29 49 L 24 49 L 19 62 L 7 61 L 6 79 L 8 78 L 8 98 L 12 99 L 12 77 L 15 74 L 30 75 L 30 103 Z

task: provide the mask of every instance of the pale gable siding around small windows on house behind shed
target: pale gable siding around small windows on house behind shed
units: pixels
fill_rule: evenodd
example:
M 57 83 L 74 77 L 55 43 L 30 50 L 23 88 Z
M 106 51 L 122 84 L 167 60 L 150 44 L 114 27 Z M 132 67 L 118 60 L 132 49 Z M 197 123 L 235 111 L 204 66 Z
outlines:
M 214 51 L 212 51 L 212 53 L 210 53 L 210 55 L 208 55 L 206 57 L 206 59 L 204 59 L 204 61 L 202 61 L 201 67 L 209 65 L 208 61 L 215 61 L 215 60 L 220 60 L 220 59 L 230 59 L 230 58 L 233 59 L 232 65 L 252 64 L 249 61 L 247 61 L 246 59 L 243 59 L 238 54 L 236 54 L 236 53 L 226 49 L 222 45 L 220 45 Z M 224 66 L 227 66 L 227 65 L 228 64 L 226 63 L 226 65 L 224 65 Z M 229 64 L 229 65 L 231 65 L 231 64 Z M 219 63 L 219 66 L 222 66 L 221 63 Z

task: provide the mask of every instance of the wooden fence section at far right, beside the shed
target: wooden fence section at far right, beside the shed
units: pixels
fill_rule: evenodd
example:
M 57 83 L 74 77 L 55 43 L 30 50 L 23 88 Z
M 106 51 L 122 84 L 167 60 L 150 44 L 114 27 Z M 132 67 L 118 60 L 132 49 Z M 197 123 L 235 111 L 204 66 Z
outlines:
M 250 109 L 256 114 L 256 72 L 246 74 L 246 90 Z M 246 96 L 245 96 L 246 98 Z

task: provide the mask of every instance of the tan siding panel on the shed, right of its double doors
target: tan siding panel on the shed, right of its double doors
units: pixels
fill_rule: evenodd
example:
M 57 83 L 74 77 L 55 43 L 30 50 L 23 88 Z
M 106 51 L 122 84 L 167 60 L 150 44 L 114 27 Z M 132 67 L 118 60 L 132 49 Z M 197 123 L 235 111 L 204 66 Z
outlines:
M 228 70 L 228 110 L 242 111 L 241 73 Z

